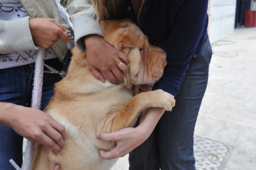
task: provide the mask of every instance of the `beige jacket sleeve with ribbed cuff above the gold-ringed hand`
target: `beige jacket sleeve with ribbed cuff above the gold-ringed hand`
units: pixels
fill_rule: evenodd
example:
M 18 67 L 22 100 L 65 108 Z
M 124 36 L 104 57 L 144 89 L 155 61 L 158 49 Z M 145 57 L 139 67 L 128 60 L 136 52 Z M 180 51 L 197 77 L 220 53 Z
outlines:
M 76 47 L 85 52 L 84 36 L 98 34 L 103 37 L 99 23 L 96 23 L 96 14 L 90 0 L 60 0 L 62 6 L 67 9 L 70 21 L 74 26 Z

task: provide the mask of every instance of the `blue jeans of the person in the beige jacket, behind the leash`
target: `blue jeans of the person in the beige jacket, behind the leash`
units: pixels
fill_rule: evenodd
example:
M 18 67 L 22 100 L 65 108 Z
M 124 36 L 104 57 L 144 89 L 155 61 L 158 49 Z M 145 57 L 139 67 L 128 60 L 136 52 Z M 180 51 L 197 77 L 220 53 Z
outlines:
M 57 59 L 49 59 L 45 63 L 58 70 L 62 67 Z M 0 69 L 0 102 L 30 107 L 33 77 L 34 64 Z M 60 80 L 61 77 L 57 74 L 44 73 L 41 110 L 53 95 L 53 84 Z M 23 137 L 4 125 L 0 125 L 0 134 L 0 170 L 15 170 L 9 162 L 10 159 L 21 167 Z

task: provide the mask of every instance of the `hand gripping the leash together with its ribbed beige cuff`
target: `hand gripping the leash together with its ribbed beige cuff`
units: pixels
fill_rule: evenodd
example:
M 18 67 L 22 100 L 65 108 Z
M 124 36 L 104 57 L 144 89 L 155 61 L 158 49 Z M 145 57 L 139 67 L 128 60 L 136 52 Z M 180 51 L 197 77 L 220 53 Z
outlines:
M 30 19 L 27 16 L 10 21 L 0 20 L 0 53 L 47 48 L 58 39 L 68 42 L 65 30 L 60 23 L 49 18 Z

